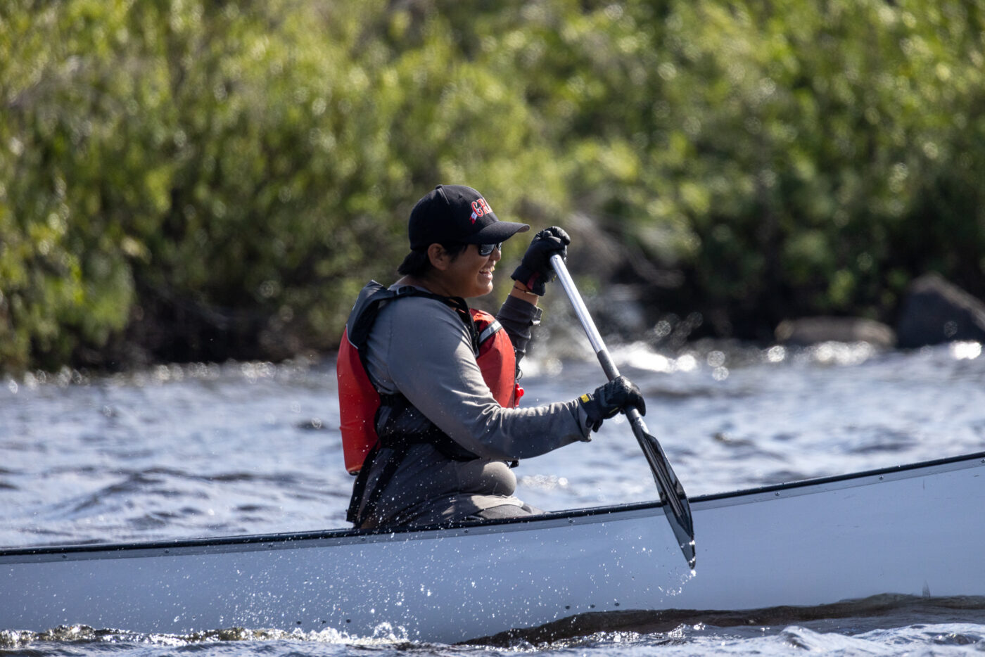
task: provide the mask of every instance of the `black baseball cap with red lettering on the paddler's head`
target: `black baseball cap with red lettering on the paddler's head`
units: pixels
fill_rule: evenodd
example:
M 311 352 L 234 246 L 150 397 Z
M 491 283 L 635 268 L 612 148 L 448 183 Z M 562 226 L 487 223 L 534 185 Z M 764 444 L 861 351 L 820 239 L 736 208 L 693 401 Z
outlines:
M 408 226 L 415 251 L 435 242 L 495 244 L 525 230 L 530 230 L 526 224 L 500 222 L 483 195 L 465 185 L 438 185 L 427 192 L 411 211 Z

